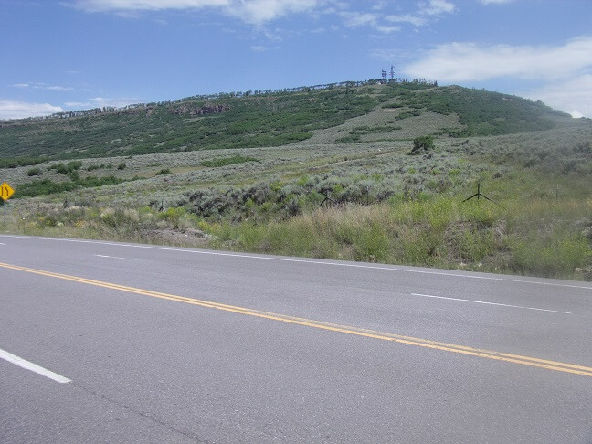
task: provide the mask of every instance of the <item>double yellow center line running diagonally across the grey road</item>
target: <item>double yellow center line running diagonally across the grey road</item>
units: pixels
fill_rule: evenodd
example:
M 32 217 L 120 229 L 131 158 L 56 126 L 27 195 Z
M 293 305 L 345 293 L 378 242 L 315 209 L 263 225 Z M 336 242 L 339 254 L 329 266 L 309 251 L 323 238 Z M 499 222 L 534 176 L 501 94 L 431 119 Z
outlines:
M 467 347 L 458 344 L 447 344 L 439 343 L 436 341 L 430 341 L 428 339 L 415 338 L 411 336 L 404 336 L 401 334 L 377 332 L 375 330 L 367 330 L 349 325 L 340 325 L 331 322 L 315 321 L 312 319 L 298 318 L 294 316 L 288 316 L 285 314 L 279 314 L 274 312 L 261 312 L 259 310 L 253 310 L 245 307 L 238 307 L 236 305 L 227 305 L 224 303 L 218 303 L 213 301 L 201 301 L 193 298 L 186 298 L 184 296 L 177 296 L 174 294 L 163 293 L 160 291 L 143 290 L 134 287 L 128 287 L 125 285 L 114 284 L 111 282 L 104 282 L 101 280 L 91 280 L 86 278 L 80 278 L 77 276 L 70 276 L 67 274 L 54 273 L 45 270 L 29 269 L 26 267 L 19 267 L 16 265 L 10 265 L 0 263 L 0 267 L 9 270 L 25 271 L 27 273 L 38 274 L 41 276 L 47 276 L 49 278 L 57 278 L 61 280 L 71 280 L 73 282 L 79 282 L 87 285 L 94 285 L 96 287 L 104 287 L 111 290 L 126 291 L 129 293 L 141 294 L 143 296 L 150 296 L 153 298 L 164 299 L 167 301 L 183 302 L 191 305 L 199 305 L 210 309 L 222 310 L 224 312 L 233 312 L 238 314 L 245 314 L 248 316 L 255 316 L 262 319 L 268 319 L 271 321 L 288 322 L 297 325 L 303 325 L 306 327 L 318 328 L 321 330 L 328 330 L 337 333 L 354 334 L 356 336 L 364 336 L 367 338 L 380 339 L 382 341 L 392 341 L 400 344 L 416 345 L 419 347 L 432 348 L 435 350 L 441 350 L 444 352 L 452 352 L 458 354 L 468 354 L 470 356 L 478 356 L 481 358 L 494 359 L 497 361 L 505 361 L 514 364 L 530 365 L 533 367 L 540 367 L 547 370 L 555 370 L 558 372 L 572 373 L 575 375 L 584 375 L 592 377 L 592 367 L 584 365 L 573 365 L 565 364 L 556 361 L 548 361 L 545 359 L 538 359 L 530 356 L 523 356 L 521 354 L 507 354 L 502 352 L 494 352 L 491 350 L 483 350 L 479 348 Z

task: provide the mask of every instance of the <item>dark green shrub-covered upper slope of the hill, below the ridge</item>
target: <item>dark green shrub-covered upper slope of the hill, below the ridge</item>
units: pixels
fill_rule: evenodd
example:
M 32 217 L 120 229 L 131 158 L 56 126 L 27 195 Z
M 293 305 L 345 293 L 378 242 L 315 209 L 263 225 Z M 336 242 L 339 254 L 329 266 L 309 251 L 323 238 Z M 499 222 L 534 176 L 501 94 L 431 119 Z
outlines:
M 353 82 L 352 82 L 353 83 Z M 393 123 L 365 128 L 397 138 L 396 122 L 425 112 L 455 114 L 451 136 L 499 135 L 551 129 L 568 119 L 543 103 L 500 93 L 420 83 L 301 88 L 218 94 L 150 103 L 76 117 L 0 122 L 0 165 L 19 158 L 48 160 L 280 146 L 312 137 L 382 106 Z M 351 142 L 359 140 L 356 132 Z M 344 142 L 348 142 L 345 140 Z

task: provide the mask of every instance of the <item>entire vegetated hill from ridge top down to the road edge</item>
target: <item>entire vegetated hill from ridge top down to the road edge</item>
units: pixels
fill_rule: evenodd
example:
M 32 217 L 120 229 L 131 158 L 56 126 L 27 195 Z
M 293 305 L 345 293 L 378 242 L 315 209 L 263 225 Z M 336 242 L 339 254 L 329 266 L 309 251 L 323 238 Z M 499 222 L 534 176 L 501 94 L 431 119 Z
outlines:
M 0 122 L 5 230 L 592 280 L 592 122 L 542 102 L 368 81 L 79 114 Z

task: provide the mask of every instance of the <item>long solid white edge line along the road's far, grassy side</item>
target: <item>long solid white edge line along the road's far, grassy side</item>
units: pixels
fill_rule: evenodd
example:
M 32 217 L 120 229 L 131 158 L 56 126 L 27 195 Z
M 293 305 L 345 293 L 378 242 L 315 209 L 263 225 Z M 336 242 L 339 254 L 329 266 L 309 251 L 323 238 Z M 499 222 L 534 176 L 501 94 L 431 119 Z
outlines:
M 378 266 L 378 265 L 348 264 L 348 263 L 342 263 L 342 262 L 327 262 L 327 261 L 310 260 L 310 259 L 274 258 L 274 257 L 270 257 L 270 256 L 257 256 L 257 255 L 241 254 L 241 253 L 225 253 L 222 251 L 204 251 L 204 250 L 187 249 L 187 248 L 157 247 L 157 246 L 153 246 L 153 245 L 124 244 L 124 243 L 101 241 L 101 240 L 84 240 L 84 239 L 69 239 L 69 238 L 43 238 L 41 236 L 15 236 L 15 235 L 0 235 L 0 237 L 43 239 L 43 240 L 54 240 L 54 241 L 64 241 L 64 242 L 79 242 L 79 243 L 83 243 L 83 244 L 100 244 L 100 245 L 110 245 L 110 246 L 114 246 L 114 247 L 160 249 L 160 250 L 166 250 L 166 251 L 181 251 L 181 252 L 193 253 L 193 254 L 207 254 L 207 255 L 212 255 L 212 256 L 230 256 L 230 257 L 234 257 L 234 258 L 279 260 L 279 261 L 283 261 L 283 262 L 302 262 L 302 263 L 309 263 L 309 264 L 316 264 L 316 265 L 333 265 L 334 267 L 354 267 L 354 268 L 358 268 L 358 269 L 390 270 L 390 271 L 399 271 L 399 272 L 403 272 L 403 273 L 432 274 L 432 275 L 436 275 L 436 276 L 452 276 L 452 277 L 456 277 L 456 278 L 481 279 L 481 280 L 502 280 L 505 282 L 518 282 L 518 283 L 525 283 L 525 284 L 547 285 L 547 286 L 551 286 L 551 287 L 565 287 L 565 288 L 571 288 L 571 289 L 592 290 L 592 287 L 587 287 L 585 285 L 569 285 L 569 284 L 560 284 L 560 283 L 555 283 L 555 282 L 541 282 L 540 280 L 519 280 L 519 279 L 508 279 L 508 278 L 496 278 L 493 276 L 474 276 L 474 275 L 470 275 L 470 274 L 447 273 L 444 271 L 409 270 L 409 269 L 398 269 L 395 267 L 382 267 L 382 266 Z

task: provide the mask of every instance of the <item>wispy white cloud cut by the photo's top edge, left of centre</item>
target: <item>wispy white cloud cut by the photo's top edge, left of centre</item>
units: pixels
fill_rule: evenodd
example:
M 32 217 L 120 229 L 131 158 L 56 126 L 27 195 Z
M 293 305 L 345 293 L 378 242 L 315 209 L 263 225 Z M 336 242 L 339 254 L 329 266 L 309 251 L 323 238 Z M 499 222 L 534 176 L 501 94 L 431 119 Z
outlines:
M 310 12 L 322 0 L 73 0 L 69 3 L 87 12 L 114 12 L 134 16 L 140 11 L 166 9 L 218 9 L 251 25 L 262 25 L 280 16 Z

